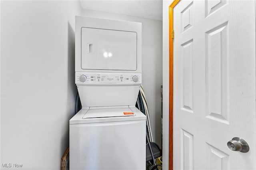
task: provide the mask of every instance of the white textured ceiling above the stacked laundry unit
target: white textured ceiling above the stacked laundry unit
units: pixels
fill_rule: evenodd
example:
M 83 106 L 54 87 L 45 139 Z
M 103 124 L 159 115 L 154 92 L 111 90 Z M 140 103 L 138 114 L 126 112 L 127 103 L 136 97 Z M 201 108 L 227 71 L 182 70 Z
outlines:
M 162 21 L 162 0 L 80 0 L 81 7 Z

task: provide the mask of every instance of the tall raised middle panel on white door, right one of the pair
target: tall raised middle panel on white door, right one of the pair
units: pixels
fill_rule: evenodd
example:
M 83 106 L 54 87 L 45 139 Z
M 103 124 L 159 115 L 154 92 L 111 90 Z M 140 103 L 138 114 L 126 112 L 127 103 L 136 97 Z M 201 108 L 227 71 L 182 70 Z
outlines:
M 228 123 L 228 22 L 206 32 L 206 79 L 210 119 Z

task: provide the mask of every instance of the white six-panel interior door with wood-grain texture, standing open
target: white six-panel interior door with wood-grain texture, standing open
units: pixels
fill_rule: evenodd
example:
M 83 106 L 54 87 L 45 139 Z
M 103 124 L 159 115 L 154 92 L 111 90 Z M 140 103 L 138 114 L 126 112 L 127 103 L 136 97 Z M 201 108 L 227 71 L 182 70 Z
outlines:
M 181 0 L 174 31 L 174 169 L 256 169 L 255 1 Z

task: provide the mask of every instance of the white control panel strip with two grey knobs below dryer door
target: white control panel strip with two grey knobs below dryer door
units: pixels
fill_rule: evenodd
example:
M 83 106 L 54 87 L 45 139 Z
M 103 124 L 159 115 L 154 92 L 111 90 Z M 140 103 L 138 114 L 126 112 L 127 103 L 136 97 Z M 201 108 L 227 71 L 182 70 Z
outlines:
M 141 84 L 141 73 L 88 73 L 76 72 L 76 84 L 80 85 L 134 85 Z

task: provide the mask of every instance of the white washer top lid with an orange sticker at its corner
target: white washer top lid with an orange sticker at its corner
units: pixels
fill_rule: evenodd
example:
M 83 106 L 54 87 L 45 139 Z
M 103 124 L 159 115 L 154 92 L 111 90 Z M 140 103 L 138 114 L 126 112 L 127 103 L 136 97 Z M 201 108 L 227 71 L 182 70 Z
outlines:
M 89 109 L 83 119 L 136 116 L 130 108 Z

